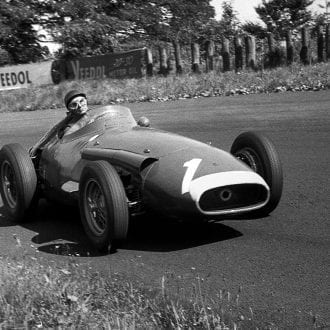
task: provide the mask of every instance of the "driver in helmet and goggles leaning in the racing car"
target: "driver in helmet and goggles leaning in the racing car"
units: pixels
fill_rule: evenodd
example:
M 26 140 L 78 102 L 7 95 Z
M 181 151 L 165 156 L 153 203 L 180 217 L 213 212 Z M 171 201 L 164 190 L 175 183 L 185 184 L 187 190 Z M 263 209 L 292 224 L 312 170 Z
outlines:
M 84 127 L 90 120 L 86 94 L 79 90 L 71 90 L 64 97 L 67 108 L 66 117 L 48 131 L 29 151 L 30 156 L 37 155 L 37 151 L 50 140 L 58 136 L 62 138 Z

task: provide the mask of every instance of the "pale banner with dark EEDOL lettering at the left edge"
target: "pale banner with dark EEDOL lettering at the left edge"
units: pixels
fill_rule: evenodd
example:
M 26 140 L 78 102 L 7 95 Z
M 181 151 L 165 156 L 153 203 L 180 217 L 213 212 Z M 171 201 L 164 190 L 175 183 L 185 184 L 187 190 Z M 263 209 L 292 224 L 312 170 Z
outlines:
M 0 67 L 0 90 L 52 84 L 52 62 Z

